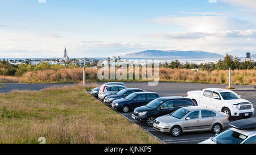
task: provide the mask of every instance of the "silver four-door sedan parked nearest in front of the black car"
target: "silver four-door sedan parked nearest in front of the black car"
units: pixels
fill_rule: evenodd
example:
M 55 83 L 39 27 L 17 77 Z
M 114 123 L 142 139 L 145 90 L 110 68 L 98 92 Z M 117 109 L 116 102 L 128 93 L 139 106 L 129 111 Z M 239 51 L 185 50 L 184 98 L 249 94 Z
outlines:
M 220 133 L 228 127 L 228 115 L 200 106 L 180 108 L 155 119 L 153 127 L 160 132 L 178 137 L 184 132 L 212 131 Z

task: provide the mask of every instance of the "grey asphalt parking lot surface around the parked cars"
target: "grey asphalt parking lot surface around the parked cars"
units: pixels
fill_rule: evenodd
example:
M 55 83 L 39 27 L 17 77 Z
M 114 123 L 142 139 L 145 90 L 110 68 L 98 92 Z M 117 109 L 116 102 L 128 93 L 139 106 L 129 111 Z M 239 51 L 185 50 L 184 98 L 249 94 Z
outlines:
M 101 84 L 101 83 L 98 83 Z M 154 91 L 158 93 L 161 97 L 166 96 L 186 96 L 187 91 L 191 90 L 203 90 L 209 87 L 218 87 L 218 88 L 225 88 L 226 85 L 218 85 L 218 84 L 201 84 L 201 83 L 179 83 L 179 82 L 160 82 L 158 86 L 148 86 L 147 82 L 125 82 L 125 85 L 129 88 L 138 87 L 144 89 L 146 91 Z M 253 89 L 253 86 L 237 86 L 239 89 Z M 237 91 L 237 94 L 241 95 L 243 99 L 247 99 L 253 103 L 254 108 L 256 108 L 256 91 Z M 103 103 L 103 102 L 102 102 Z M 112 108 L 112 107 L 110 107 Z M 112 108 L 113 109 L 113 108 Z M 114 110 L 114 109 L 113 109 Z M 117 111 L 118 112 L 118 111 Z M 144 131 L 149 133 L 152 136 L 155 136 L 159 141 L 162 143 L 173 143 L 173 144 L 196 144 L 200 143 L 201 141 L 209 139 L 209 137 L 214 136 L 212 132 L 193 132 L 193 133 L 184 133 L 180 137 L 172 137 L 167 133 L 162 133 L 155 131 L 154 128 L 148 127 L 144 123 L 140 123 L 137 120 L 131 118 L 132 112 L 129 113 L 122 113 L 118 112 L 118 114 L 122 115 L 130 122 L 138 124 Z M 254 114 L 252 117 L 256 117 Z M 236 118 L 230 120 L 230 122 L 241 119 Z M 225 130 L 225 129 L 224 129 Z

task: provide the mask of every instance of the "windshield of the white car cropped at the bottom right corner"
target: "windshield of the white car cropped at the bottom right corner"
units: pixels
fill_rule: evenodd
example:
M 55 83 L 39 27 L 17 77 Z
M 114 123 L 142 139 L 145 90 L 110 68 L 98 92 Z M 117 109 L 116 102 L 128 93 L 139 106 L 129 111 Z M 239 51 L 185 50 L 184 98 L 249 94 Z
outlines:
M 247 136 L 242 133 L 228 129 L 220 133 L 220 135 L 213 137 L 212 141 L 217 144 L 241 144 L 246 138 Z

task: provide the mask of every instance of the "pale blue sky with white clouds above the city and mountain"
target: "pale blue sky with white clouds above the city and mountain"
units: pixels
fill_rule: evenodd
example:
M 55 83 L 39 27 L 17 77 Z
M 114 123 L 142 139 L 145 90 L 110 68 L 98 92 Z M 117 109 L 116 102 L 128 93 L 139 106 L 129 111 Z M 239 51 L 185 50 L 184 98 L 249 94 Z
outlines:
M 256 54 L 255 0 L 0 0 L 0 58 Z

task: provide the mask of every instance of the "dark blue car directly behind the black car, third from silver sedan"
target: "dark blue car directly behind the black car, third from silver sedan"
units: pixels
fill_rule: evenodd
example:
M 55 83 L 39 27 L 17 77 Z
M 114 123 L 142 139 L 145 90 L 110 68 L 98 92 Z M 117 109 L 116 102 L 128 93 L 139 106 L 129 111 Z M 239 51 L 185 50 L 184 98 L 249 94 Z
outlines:
M 130 94 L 126 98 L 114 100 L 112 107 L 118 111 L 129 112 L 137 107 L 144 106 L 156 98 L 159 98 L 158 93 L 137 92 Z

